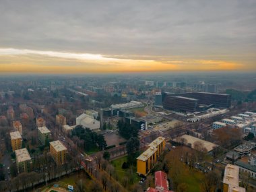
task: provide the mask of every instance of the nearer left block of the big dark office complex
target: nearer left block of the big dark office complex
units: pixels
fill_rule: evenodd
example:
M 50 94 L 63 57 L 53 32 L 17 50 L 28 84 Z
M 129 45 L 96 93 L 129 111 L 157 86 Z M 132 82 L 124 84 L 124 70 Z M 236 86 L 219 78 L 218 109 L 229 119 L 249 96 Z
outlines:
M 198 100 L 184 96 L 166 96 L 163 106 L 169 110 L 177 110 L 182 112 L 195 112 Z

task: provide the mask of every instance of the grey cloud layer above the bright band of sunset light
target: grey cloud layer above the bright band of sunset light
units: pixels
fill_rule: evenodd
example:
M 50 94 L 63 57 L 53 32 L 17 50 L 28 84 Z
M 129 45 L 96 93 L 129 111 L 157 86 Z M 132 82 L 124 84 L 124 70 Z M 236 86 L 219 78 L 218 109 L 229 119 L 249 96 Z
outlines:
M 0 2 L 3 48 L 255 58 L 256 1 Z

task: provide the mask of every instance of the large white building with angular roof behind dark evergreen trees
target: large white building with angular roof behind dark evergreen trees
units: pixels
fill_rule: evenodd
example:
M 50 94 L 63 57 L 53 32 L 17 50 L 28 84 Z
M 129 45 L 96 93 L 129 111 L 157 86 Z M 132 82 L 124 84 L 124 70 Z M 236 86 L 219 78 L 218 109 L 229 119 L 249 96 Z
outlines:
M 92 131 L 100 131 L 100 121 L 94 119 L 90 115 L 83 113 L 75 119 L 75 125 L 82 125 L 84 128 L 91 129 Z

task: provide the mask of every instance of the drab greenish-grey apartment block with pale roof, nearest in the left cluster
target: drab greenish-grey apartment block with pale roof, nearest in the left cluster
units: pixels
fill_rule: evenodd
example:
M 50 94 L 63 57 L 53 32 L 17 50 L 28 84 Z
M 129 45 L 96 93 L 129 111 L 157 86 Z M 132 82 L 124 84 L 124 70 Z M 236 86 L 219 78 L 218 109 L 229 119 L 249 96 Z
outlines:
M 32 160 L 27 148 L 15 150 L 18 172 L 30 172 Z

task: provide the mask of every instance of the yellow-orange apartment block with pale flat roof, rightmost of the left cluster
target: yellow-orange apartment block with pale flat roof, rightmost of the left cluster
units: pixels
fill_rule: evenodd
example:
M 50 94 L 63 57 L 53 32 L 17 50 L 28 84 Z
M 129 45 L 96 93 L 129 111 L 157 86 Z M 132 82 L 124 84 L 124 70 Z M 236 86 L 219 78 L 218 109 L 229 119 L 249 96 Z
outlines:
M 61 143 L 61 141 L 50 142 L 50 153 L 56 164 L 65 164 L 67 160 L 67 148 Z

